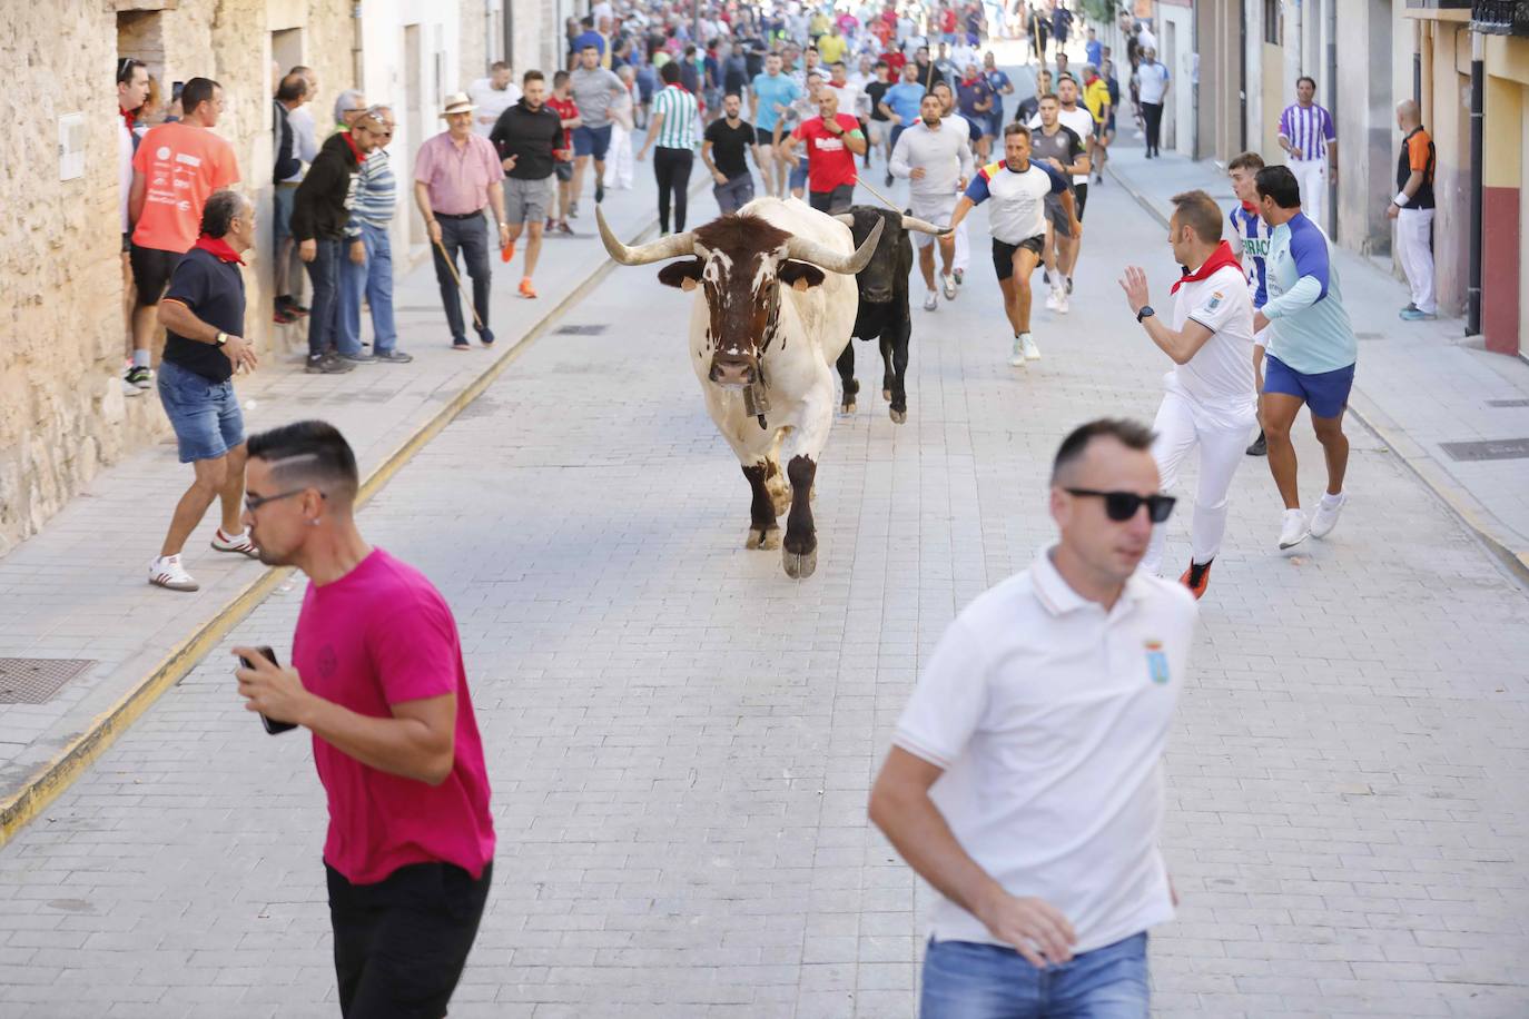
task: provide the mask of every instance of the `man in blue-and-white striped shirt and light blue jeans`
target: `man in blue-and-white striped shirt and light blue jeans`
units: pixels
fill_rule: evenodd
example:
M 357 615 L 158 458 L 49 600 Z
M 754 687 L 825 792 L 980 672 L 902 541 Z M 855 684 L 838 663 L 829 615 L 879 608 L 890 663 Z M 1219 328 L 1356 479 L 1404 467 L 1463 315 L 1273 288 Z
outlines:
M 372 309 L 372 354 L 381 364 L 407 365 L 413 356 L 398 348 L 393 318 L 393 241 L 388 231 L 398 211 L 398 176 L 387 151 L 393 141 L 393 108 L 367 110 L 376 124 L 376 145 L 361 160 L 356 197 L 346 228 L 349 257 L 339 264 L 341 350 L 361 350 L 361 298 Z

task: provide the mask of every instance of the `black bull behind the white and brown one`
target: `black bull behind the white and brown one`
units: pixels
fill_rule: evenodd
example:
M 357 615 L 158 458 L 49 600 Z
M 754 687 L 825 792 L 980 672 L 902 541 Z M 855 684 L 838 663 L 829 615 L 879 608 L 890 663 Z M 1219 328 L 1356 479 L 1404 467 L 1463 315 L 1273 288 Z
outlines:
M 870 237 L 878 222 L 885 222 L 876 254 L 872 255 L 864 269 L 855 273 L 855 283 L 859 289 L 859 312 L 850 335 L 858 339 L 881 341 L 881 396 L 891 405 L 891 420 L 901 425 L 908 420 L 905 380 L 908 374 L 908 336 L 913 332 L 913 322 L 908 318 L 913 241 L 908 240 L 908 231 L 902 226 L 901 212 L 856 205 L 836 218 L 846 222 L 853 231 L 856 246 Z M 853 222 L 849 222 L 850 218 Z M 855 396 L 859 393 L 859 382 L 855 380 L 853 341 L 839 354 L 838 370 L 844 383 L 841 409 L 852 414 L 855 412 Z

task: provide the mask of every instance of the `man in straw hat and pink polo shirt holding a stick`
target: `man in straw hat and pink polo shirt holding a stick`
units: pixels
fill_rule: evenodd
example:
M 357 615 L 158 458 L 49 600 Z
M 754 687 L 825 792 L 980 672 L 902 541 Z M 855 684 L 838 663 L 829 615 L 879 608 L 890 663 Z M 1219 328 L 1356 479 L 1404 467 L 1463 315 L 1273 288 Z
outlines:
M 477 312 L 474 327 L 479 339 L 485 347 L 494 344 L 494 332 L 488 327 L 491 272 L 485 206 L 494 208 L 500 247 L 509 244 L 505 168 L 494 144 L 472 133 L 476 108 L 465 92 L 446 96 L 446 105 L 440 112 L 446 130 L 420 145 L 419 156 L 414 157 L 414 203 L 430 229 L 436 283 L 440 284 L 440 299 L 446 306 L 453 350 L 471 348 L 457 296 L 457 251 L 463 254 L 468 275 L 472 277 L 472 309 Z

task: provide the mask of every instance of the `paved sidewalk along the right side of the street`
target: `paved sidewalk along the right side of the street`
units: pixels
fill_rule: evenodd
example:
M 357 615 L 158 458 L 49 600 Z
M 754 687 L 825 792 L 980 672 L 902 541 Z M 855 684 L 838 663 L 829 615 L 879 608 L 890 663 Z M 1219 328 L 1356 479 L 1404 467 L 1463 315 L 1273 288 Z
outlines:
M 1182 191 L 1203 188 L 1223 208 L 1235 202 L 1216 163 L 1171 151 L 1148 163 L 1124 119 L 1121 134 L 1104 186 L 1124 185 L 1165 226 L 1170 197 Z M 1529 437 L 1529 362 L 1488 353 L 1457 318 L 1401 321 L 1407 286 L 1375 260 L 1339 249 L 1338 267 L 1359 338 L 1350 411 L 1529 582 L 1529 458 L 1483 445 Z M 1454 443 L 1472 443 L 1456 454 L 1483 458 L 1457 460 Z M 1494 454 L 1503 458 L 1486 458 Z

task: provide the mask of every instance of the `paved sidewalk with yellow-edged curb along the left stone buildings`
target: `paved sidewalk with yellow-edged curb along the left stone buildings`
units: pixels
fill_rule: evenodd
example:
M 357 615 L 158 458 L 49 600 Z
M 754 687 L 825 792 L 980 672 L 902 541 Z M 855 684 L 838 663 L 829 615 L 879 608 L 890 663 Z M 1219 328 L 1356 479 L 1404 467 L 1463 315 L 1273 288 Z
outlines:
M 709 179 L 694 174 L 691 182 L 697 196 Z M 592 182 L 586 188 L 592 191 Z M 709 218 L 714 206 L 708 206 L 709 192 L 699 202 L 693 197 L 693 220 Z M 656 208 L 648 163 L 636 167 L 633 189 L 609 191 L 604 205 L 612 228 L 628 243 L 656 235 Z M 310 376 L 303 371 L 304 345 L 268 354 L 255 374 L 239 382 L 246 431 L 324 417 L 355 448 L 367 498 L 466 406 L 526 339 L 613 266 L 595 229 L 590 194 L 572 225 L 578 237 L 543 244 L 535 301 L 515 295 L 524 238 L 511 264 L 494 258 L 494 350 L 483 350 L 476 338 L 471 351 L 450 348 L 434 267 L 425 258 L 396 283 L 393 298 L 399 348 L 414 356 L 413 364 Z M 268 310 L 249 309 L 249 315 L 261 313 Z M 370 322 L 364 330 L 370 339 Z M 619 342 L 619 336 L 612 339 Z M 139 399 L 157 397 L 150 391 Z M 187 568 L 202 590 L 182 594 L 150 587 L 148 562 L 190 478 L 190 469 L 177 463 L 174 438 L 167 438 L 101 472 L 40 533 L 0 558 L 0 845 L 260 599 L 297 582 L 291 570 L 268 570 L 213 552 L 214 504 L 185 548 Z M 11 657 L 43 662 L 3 662 Z M 24 684 L 32 675 L 29 665 L 80 672 L 43 703 L 11 703 L 6 687 L 18 678 Z

